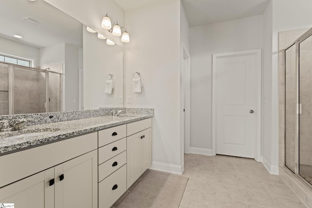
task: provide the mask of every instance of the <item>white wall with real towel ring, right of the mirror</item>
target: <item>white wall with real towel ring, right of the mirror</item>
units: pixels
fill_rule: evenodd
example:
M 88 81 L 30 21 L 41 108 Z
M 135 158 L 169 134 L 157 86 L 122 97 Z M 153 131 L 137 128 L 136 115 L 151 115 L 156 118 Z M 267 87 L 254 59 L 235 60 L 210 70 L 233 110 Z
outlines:
M 181 172 L 180 1 L 158 0 L 126 12 L 132 39 L 125 45 L 126 107 L 154 108 L 153 169 Z M 132 93 L 140 71 L 143 92 Z

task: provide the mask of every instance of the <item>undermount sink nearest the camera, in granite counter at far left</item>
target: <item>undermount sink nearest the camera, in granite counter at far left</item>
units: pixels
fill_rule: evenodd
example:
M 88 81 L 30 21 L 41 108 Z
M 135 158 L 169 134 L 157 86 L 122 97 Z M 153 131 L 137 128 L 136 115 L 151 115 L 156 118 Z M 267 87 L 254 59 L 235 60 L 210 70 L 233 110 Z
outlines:
M 59 131 L 58 128 L 44 128 L 44 129 L 25 129 L 16 132 L 5 132 L 1 135 L 2 138 L 6 139 L 16 139 L 16 138 L 25 138 L 31 136 L 40 136 L 44 134 L 54 133 Z

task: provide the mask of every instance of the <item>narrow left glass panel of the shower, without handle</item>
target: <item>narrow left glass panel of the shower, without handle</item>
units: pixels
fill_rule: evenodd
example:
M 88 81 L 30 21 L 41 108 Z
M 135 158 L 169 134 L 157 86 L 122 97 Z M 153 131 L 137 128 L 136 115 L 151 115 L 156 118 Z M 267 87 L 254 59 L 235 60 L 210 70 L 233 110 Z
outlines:
M 296 45 L 285 51 L 285 165 L 295 172 L 297 89 L 296 89 Z

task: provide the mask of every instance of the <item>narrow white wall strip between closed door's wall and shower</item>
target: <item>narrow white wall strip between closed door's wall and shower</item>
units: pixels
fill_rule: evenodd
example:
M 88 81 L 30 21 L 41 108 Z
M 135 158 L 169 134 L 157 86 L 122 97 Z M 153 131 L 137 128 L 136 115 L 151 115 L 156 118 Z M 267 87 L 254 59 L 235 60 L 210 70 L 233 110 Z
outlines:
M 273 3 L 267 6 L 263 14 L 264 22 L 264 49 L 262 71 L 262 131 L 261 131 L 261 155 L 268 170 L 271 170 L 272 161 L 272 27 L 273 27 Z

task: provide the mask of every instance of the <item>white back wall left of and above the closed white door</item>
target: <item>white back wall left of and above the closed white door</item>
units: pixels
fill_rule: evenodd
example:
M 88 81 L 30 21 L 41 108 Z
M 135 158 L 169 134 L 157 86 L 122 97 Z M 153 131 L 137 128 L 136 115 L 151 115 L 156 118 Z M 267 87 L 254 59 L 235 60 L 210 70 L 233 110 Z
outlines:
M 212 149 L 212 55 L 263 49 L 263 16 L 191 27 L 191 147 Z

